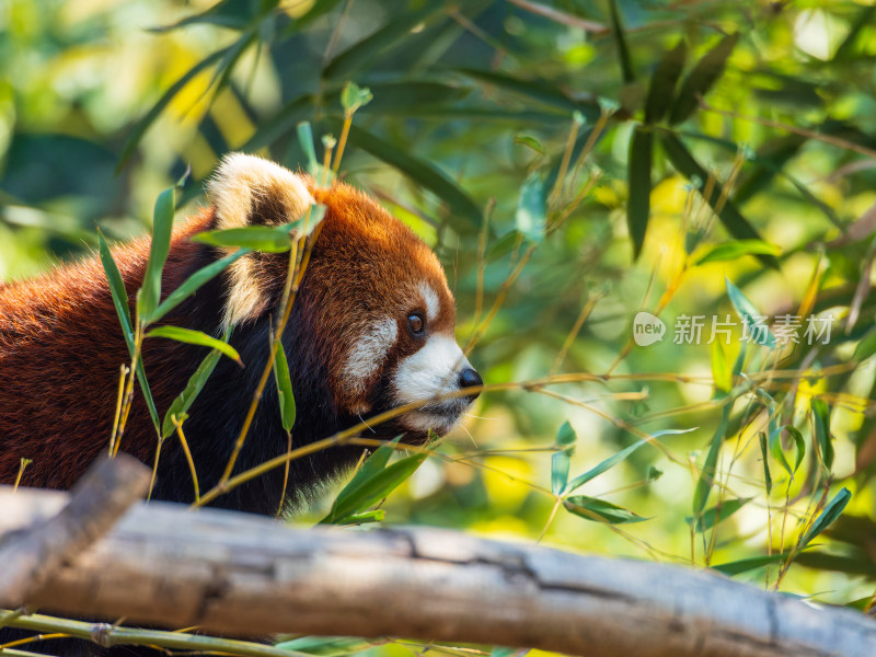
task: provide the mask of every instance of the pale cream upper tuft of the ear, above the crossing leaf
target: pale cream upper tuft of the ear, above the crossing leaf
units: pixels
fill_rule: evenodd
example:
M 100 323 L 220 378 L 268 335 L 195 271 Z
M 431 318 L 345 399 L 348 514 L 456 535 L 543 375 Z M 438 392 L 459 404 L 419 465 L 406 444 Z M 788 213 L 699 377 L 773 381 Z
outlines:
M 207 197 L 216 207 L 216 228 L 264 223 L 252 217 L 257 200 L 283 209 L 280 222 L 295 221 L 313 204 L 301 177 L 285 166 L 257 155 L 229 153 L 207 183 Z

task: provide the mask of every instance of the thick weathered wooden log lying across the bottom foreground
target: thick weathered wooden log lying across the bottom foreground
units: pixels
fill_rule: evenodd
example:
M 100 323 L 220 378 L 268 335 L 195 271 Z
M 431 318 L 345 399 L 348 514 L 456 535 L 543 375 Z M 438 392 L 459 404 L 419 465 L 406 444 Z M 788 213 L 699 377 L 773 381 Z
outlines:
M 0 532 L 65 505 L 0 489 Z M 293 529 L 136 505 L 27 600 L 252 636 L 385 635 L 588 657 L 872 657 L 876 622 L 707 570 L 424 528 Z

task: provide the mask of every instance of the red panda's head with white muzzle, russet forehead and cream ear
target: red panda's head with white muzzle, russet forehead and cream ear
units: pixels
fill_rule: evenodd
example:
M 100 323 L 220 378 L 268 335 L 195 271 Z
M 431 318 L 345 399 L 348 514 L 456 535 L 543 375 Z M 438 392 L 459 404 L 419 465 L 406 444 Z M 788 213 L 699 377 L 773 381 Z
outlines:
M 324 381 L 293 377 L 326 385 L 338 415 L 367 418 L 482 383 L 454 339 L 453 296 L 438 258 L 371 198 L 343 183 L 320 189 L 309 176 L 243 154 L 223 160 L 208 195 L 217 228 L 286 223 L 314 200 L 325 205 L 293 307 L 293 335 L 284 344 L 293 368 L 324 371 Z M 268 254 L 237 261 L 226 322 L 276 312 L 287 264 Z M 405 433 L 408 440 L 445 434 L 474 396 L 434 401 L 377 433 Z

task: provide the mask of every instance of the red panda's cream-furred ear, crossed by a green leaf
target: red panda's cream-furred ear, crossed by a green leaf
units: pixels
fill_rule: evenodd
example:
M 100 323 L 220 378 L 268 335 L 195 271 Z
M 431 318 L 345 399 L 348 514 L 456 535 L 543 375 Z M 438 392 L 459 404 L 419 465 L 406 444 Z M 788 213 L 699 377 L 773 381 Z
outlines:
M 207 183 L 207 197 L 216 209 L 216 228 L 252 224 L 279 226 L 300 218 L 312 205 L 301 176 L 274 162 L 244 153 L 230 153 Z M 233 251 L 229 250 L 229 251 Z M 228 268 L 224 326 L 254 319 L 267 298 L 258 265 L 252 254 Z

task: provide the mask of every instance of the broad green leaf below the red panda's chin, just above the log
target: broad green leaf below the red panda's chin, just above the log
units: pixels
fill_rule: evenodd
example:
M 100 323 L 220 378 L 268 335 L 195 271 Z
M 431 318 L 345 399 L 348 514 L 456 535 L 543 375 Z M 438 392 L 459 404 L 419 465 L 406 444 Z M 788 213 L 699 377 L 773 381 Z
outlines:
M 376 456 L 377 453 L 374 453 Z M 320 521 L 320 525 L 346 523 L 350 516 L 360 514 L 368 507 L 376 505 L 414 474 L 427 456 L 426 452 L 412 454 L 385 468 L 379 468 L 378 463 L 378 465 L 372 465 L 366 470 L 365 465 L 362 465 L 356 476 L 337 495 L 332 505 L 332 510 Z M 371 459 L 374 457 L 371 457 Z

